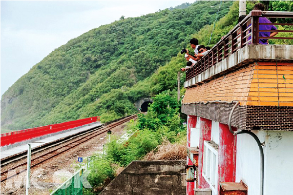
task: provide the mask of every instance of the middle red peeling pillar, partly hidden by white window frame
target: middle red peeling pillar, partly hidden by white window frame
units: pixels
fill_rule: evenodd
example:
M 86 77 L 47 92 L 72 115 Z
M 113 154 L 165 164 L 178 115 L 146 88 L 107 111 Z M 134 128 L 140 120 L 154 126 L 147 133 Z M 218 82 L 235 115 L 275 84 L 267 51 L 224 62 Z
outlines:
M 200 139 L 199 139 L 199 156 L 198 156 L 198 188 L 209 188 L 208 182 L 203 177 L 203 155 L 204 141 L 210 140 L 211 137 L 211 120 L 200 118 Z

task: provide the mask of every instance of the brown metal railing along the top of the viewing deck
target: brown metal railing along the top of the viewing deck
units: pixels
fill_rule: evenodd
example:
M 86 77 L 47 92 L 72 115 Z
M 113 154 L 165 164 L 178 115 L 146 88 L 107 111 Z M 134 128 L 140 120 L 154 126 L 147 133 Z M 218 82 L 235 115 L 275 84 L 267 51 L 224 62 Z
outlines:
M 249 15 L 238 23 L 230 32 L 215 44 L 209 53 L 186 72 L 189 80 L 204 72 L 216 63 L 226 59 L 231 54 L 248 44 L 259 44 L 259 39 L 293 39 L 293 37 L 259 37 L 259 32 L 293 33 L 292 30 L 259 30 L 258 25 L 284 25 L 293 26 L 293 23 L 259 23 L 261 17 L 265 18 L 293 18 L 293 12 L 263 12 L 251 11 Z

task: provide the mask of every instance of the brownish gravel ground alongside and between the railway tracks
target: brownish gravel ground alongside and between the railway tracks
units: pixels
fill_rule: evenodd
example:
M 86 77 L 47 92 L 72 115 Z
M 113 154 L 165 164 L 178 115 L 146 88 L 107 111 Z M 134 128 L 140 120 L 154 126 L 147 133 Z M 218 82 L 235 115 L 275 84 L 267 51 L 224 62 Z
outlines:
M 126 122 L 128 123 L 128 122 Z M 125 133 L 126 123 L 118 125 L 111 129 L 112 135 L 122 136 Z M 71 149 L 70 151 L 63 153 L 59 156 L 56 156 L 52 159 L 48 159 L 46 162 L 41 165 L 37 165 L 31 169 L 31 187 L 29 188 L 29 195 L 49 195 L 53 192 L 58 185 L 63 183 L 66 178 L 70 177 L 78 166 L 78 157 L 91 156 L 98 151 L 103 151 L 103 144 L 107 142 L 107 132 L 94 137 L 79 146 Z M 74 140 L 76 140 L 75 138 Z M 71 142 L 71 141 L 70 141 Z M 66 143 L 61 144 L 62 146 L 66 145 Z M 55 149 L 57 147 L 54 147 Z M 41 153 L 37 153 L 33 155 L 41 156 L 45 152 L 52 151 L 54 148 L 47 149 L 42 151 Z M 24 158 L 21 161 L 16 163 L 11 163 L 9 165 L 1 168 L 3 171 L 16 166 L 17 164 L 21 164 L 21 162 L 26 162 L 27 159 Z M 12 179 L 8 179 L 1 183 L 1 195 L 25 195 L 25 181 L 26 172 L 21 173 L 18 176 L 13 177 Z M 12 184 L 12 180 L 18 181 L 19 185 L 15 186 L 16 182 Z M 7 182 L 7 186 L 6 186 Z M 59 184 L 58 184 L 59 183 Z M 41 189 L 39 189 L 41 188 Z

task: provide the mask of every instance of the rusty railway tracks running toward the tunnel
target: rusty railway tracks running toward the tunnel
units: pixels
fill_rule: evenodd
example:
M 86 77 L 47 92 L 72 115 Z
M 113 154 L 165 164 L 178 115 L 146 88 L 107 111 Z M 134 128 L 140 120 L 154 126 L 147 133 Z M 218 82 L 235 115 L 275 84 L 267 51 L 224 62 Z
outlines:
M 52 143 L 50 146 L 46 146 L 46 147 L 42 147 L 38 150 L 34 150 L 32 151 L 32 154 L 37 154 L 41 151 L 44 151 L 46 149 L 50 149 L 52 147 L 56 147 L 62 143 L 65 143 L 65 142 L 68 142 L 66 143 L 66 145 L 63 145 L 63 146 L 60 146 L 60 147 L 57 147 L 56 149 L 50 151 L 50 152 L 47 152 L 45 154 L 42 154 L 41 156 L 37 156 L 37 157 L 34 157 L 31 159 L 31 168 L 37 166 L 37 165 L 40 165 L 42 164 L 43 162 L 51 159 L 51 158 L 54 158 L 55 156 L 58 156 L 60 154 L 63 154 L 67 151 L 69 151 L 70 149 L 88 141 L 89 139 L 93 138 L 93 137 L 96 137 L 96 136 L 99 136 L 105 132 L 108 132 L 110 131 L 112 128 L 118 126 L 118 125 L 121 125 L 127 121 L 129 121 L 130 119 L 133 119 L 135 118 L 137 115 L 132 115 L 132 116 L 129 116 L 129 117 L 126 117 L 126 118 L 123 118 L 121 120 L 118 120 L 118 121 L 114 121 L 110 124 L 107 124 L 106 126 L 102 126 L 102 127 L 96 127 L 96 128 L 93 128 L 93 129 L 90 129 L 89 131 L 86 131 L 86 132 L 83 132 L 79 135 L 74 135 L 73 137 L 65 137 L 65 139 L 60 139 L 58 140 L 57 142 L 54 142 Z M 71 140 L 71 141 L 70 141 Z M 26 154 L 23 154 L 22 156 L 13 156 L 11 159 L 7 158 L 5 159 L 5 164 L 8 164 L 8 163 L 11 163 L 13 161 L 16 161 L 16 160 L 20 160 L 21 158 L 24 158 L 26 157 L 27 155 Z M 9 177 L 7 177 L 7 174 L 8 174 L 8 171 L 9 170 L 5 170 L 3 172 L 1 172 L 1 182 L 9 179 L 9 178 L 12 178 L 24 171 L 26 171 L 26 164 L 27 162 L 24 162 L 24 163 L 21 163 L 19 165 L 16 165 L 14 166 L 13 168 L 10 168 L 9 170 L 16 170 L 16 174 L 14 175 L 11 175 Z M 1 166 L 2 166 L 2 162 L 1 162 Z M 4 166 L 4 165 L 3 165 Z

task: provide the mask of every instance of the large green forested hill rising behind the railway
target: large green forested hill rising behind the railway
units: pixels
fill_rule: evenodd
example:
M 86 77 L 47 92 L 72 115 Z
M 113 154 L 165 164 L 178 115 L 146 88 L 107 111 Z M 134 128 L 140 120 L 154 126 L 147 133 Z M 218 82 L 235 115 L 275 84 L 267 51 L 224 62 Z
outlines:
M 228 14 L 232 3 L 222 1 L 218 19 Z M 8 123 L 15 122 L 15 129 L 24 129 L 83 117 L 101 115 L 109 120 L 135 113 L 133 103 L 139 98 L 174 88 L 183 62 L 178 52 L 202 28 L 211 31 L 219 4 L 184 3 L 121 19 L 69 40 L 4 93 L 1 127 L 12 129 Z

